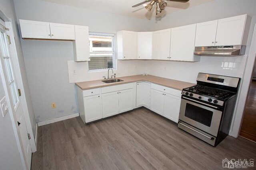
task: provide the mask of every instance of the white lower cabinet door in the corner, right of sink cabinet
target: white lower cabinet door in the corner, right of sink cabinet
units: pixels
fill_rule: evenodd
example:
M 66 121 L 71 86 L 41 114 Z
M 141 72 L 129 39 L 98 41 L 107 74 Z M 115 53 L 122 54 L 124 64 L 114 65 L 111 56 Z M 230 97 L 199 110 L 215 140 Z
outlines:
M 150 107 L 150 89 L 151 83 L 137 82 L 136 83 L 136 107 Z

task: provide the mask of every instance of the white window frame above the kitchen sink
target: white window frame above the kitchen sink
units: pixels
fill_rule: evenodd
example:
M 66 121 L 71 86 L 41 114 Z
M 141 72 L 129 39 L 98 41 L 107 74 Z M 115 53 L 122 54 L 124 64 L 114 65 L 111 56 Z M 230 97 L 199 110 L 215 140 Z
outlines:
M 89 32 L 89 39 L 90 39 L 90 36 L 112 37 L 112 51 L 104 51 L 104 53 L 102 53 L 102 51 L 91 52 L 91 49 L 90 49 L 90 58 L 92 58 L 91 54 L 112 54 L 112 61 L 113 61 L 113 68 L 112 69 L 116 70 L 116 34 L 114 34 L 114 33 Z M 89 43 L 89 46 L 91 46 L 90 43 Z M 88 61 L 88 72 L 103 72 L 103 71 L 106 71 L 108 69 L 109 68 L 100 68 L 100 69 L 89 70 L 89 61 Z

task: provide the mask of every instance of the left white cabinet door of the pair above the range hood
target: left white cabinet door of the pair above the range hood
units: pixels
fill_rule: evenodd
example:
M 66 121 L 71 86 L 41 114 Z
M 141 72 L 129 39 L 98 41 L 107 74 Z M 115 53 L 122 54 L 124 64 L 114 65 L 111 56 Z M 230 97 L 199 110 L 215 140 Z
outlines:
M 214 46 L 218 20 L 196 24 L 195 47 Z

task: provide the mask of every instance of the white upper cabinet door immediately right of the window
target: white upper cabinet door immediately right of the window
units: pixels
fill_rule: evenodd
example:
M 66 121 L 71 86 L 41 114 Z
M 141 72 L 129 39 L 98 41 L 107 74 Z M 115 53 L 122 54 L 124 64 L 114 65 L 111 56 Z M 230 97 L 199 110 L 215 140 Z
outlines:
M 137 59 L 137 32 L 123 31 L 123 59 Z

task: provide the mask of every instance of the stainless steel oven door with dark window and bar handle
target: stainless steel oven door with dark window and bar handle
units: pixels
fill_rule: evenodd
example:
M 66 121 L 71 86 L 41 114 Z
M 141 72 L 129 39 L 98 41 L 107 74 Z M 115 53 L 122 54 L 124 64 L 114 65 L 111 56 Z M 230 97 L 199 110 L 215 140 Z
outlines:
M 222 116 L 222 111 L 217 108 L 182 97 L 179 119 L 216 137 Z

